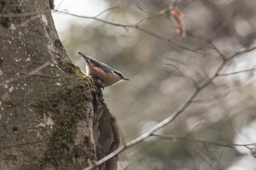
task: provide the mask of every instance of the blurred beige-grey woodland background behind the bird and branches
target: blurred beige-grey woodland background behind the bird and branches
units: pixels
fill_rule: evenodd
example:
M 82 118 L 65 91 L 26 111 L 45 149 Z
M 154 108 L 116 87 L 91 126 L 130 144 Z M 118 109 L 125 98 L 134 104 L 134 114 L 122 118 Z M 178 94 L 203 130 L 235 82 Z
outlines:
M 97 16 L 113 23 L 135 25 L 149 16 L 139 27 L 172 38 L 174 42 L 132 27 L 52 13 L 70 59 L 84 72 L 85 61 L 77 55 L 78 50 L 131 79 L 103 90 L 105 102 L 119 124 L 122 144 L 170 116 L 194 91 L 193 84 L 165 63 L 173 64 L 199 84 L 209 78 L 221 62 L 219 54 L 203 37 L 210 38 L 226 57 L 256 43 L 254 0 L 178 0 L 175 5 L 185 15 L 183 22 L 187 29 L 183 41 L 170 12 L 161 13 L 173 3 L 174 0 L 55 0 L 57 10 L 83 16 L 96 16 L 113 7 Z M 235 57 L 221 74 L 253 69 L 255 53 L 256 50 L 252 50 Z M 217 77 L 199 93 L 196 102 L 156 133 L 256 143 L 255 78 L 253 71 Z M 255 169 L 252 151 L 238 146 L 149 137 L 119 155 L 118 169 Z

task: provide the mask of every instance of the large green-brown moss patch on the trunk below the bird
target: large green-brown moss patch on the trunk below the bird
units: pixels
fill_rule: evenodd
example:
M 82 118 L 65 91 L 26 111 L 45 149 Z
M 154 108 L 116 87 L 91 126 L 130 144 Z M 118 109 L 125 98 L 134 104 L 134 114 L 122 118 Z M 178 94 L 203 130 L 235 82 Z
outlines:
M 49 145 L 45 151 L 42 165 L 51 162 L 58 167 L 60 164 L 73 164 L 74 138 L 79 120 L 88 118 L 88 104 L 92 101 L 94 83 L 79 67 L 72 63 L 62 64 L 61 68 L 77 77 L 71 85 L 56 90 L 46 99 L 31 104 L 47 113 L 54 121 Z M 74 78 L 74 76 L 73 76 Z

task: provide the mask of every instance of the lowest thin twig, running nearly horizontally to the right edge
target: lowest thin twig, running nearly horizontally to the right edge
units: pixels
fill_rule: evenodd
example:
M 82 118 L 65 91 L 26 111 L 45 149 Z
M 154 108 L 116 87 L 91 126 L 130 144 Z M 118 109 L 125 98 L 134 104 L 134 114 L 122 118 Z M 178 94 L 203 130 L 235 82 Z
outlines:
M 256 145 L 256 143 L 250 143 L 250 144 L 237 144 L 237 143 L 229 143 L 229 142 L 224 142 L 224 141 L 215 141 L 215 140 L 208 140 L 208 139 L 202 139 L 202 138 L 194 138 L 194 137 L 188 137 L 187 135 L 162 135 L 162 134 L 151 134 L 152 137 L 157 137 L 161 139 L 169 139 L 173 141 L 177 140 L 189 140 L 193 142 L 202 142 L 202 143 L 209 143 L 211 145 L 218 145 L 222 147 L 249 147 Z

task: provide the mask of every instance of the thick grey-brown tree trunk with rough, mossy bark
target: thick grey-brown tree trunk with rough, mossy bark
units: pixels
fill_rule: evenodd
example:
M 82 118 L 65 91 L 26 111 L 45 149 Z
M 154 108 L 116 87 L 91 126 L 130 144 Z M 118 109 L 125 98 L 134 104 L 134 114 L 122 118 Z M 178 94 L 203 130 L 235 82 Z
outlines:
M 46 0 L 0 3 L 1 14 L 47 9 Z M 70 62 L 51 13 L 0 24 L 0 169 L 83 169 L 116 149 L 102 83 Z M 98 167 L 116 168 L 117 157 Z

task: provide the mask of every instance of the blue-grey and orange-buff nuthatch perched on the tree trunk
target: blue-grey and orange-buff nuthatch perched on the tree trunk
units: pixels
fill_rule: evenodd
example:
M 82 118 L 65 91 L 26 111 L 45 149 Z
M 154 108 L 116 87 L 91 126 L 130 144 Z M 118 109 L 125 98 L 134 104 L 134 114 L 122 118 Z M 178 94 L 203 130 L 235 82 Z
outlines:
M 93 58 L 86 57 L 83 53 L 77 52 L 86 61 L 86 74 L 94 78 L 99 78 L 105 83 L 105 86 L 111 86 L 122 80 L 130 80 L 115 69 L 112 69 L 107 64 L 101 63 Z

